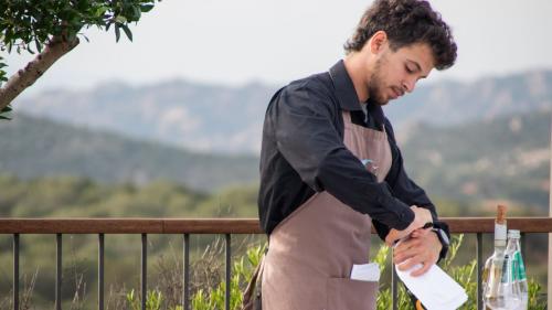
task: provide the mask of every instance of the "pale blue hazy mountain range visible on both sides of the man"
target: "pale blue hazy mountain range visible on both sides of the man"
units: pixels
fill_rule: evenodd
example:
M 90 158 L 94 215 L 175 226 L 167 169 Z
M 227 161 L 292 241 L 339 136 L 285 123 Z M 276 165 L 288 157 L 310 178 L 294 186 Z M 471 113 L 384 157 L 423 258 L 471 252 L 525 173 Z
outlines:
M 299 77 L 298 77 L 299 78 Z M 258 153 L 262 122 L 275 85 L 226 87 L 174 79 L 129 86 L 106 83 L 89 90 L 49 90 L 14 106 L 38 117 L 107 129 L 191 150 Z M 417 124 L 459 125 L 552 107 L 552 71 L 474 83 L 440 82 L 385 107 L 400 131 Z

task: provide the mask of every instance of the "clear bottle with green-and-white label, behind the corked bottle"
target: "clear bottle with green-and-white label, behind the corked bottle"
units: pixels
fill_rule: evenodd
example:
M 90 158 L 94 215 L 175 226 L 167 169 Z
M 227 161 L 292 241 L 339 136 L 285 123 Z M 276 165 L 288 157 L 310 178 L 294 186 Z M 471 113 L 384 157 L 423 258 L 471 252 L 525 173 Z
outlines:
M 518 290 L 521 296 L 521 304 L 516 308 L 517 310 L 527 310 L 528 307 L 528 285 L 526 275 L 526 265 L 523 264 L 523 258 L 521 257 L 520 247 L 520 232 L 517 229 L 508 231 L 508 246 L 506 247 L 506 254 L 511 260 L 511 274 L 513 277 L 513 288 Z

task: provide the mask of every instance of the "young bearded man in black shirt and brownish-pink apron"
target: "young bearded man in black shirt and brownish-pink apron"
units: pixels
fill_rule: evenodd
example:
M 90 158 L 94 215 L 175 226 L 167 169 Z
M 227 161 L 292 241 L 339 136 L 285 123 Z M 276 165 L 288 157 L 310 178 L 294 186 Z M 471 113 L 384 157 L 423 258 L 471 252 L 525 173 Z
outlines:
M 456 60 L 429 3 L 376 0 L 329 72 L 272 98 L 261 153 L 264 310 L 375 309 L 378 282 L 351 280 L 369 263 L 371 224 L 402 269 L 446 255 L 448 228 L 407 175 L 382 106 Z M 431 137 L 428 137 L 431 139 Z M 433 223 L 433 228 L 423 228 Z

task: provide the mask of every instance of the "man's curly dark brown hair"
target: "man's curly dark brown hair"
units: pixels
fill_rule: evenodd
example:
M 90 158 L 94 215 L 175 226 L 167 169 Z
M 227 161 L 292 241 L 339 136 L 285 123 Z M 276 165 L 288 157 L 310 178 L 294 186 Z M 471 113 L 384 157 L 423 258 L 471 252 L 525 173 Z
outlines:
M 344 44 L 346 53 L 362 50 L 380 30 L 388 34 L 392 51 L 414 43 L 427 43 L 437 70 L 448 68 L 456 61 L 457 47 L 450 28 L 427 1 L 375 0 Z

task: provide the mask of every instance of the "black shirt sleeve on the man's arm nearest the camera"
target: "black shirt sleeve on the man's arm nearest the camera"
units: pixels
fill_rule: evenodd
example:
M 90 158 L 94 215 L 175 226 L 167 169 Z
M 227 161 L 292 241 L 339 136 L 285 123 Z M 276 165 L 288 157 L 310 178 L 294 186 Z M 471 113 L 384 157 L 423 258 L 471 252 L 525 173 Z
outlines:
M 315 191 L 327 191 L 389 227 L 406 228 L 414 213 L 344 147 L 336 128 L 337 105 L 308 82 L 279 92 L 267 110 L 279 152 Z

